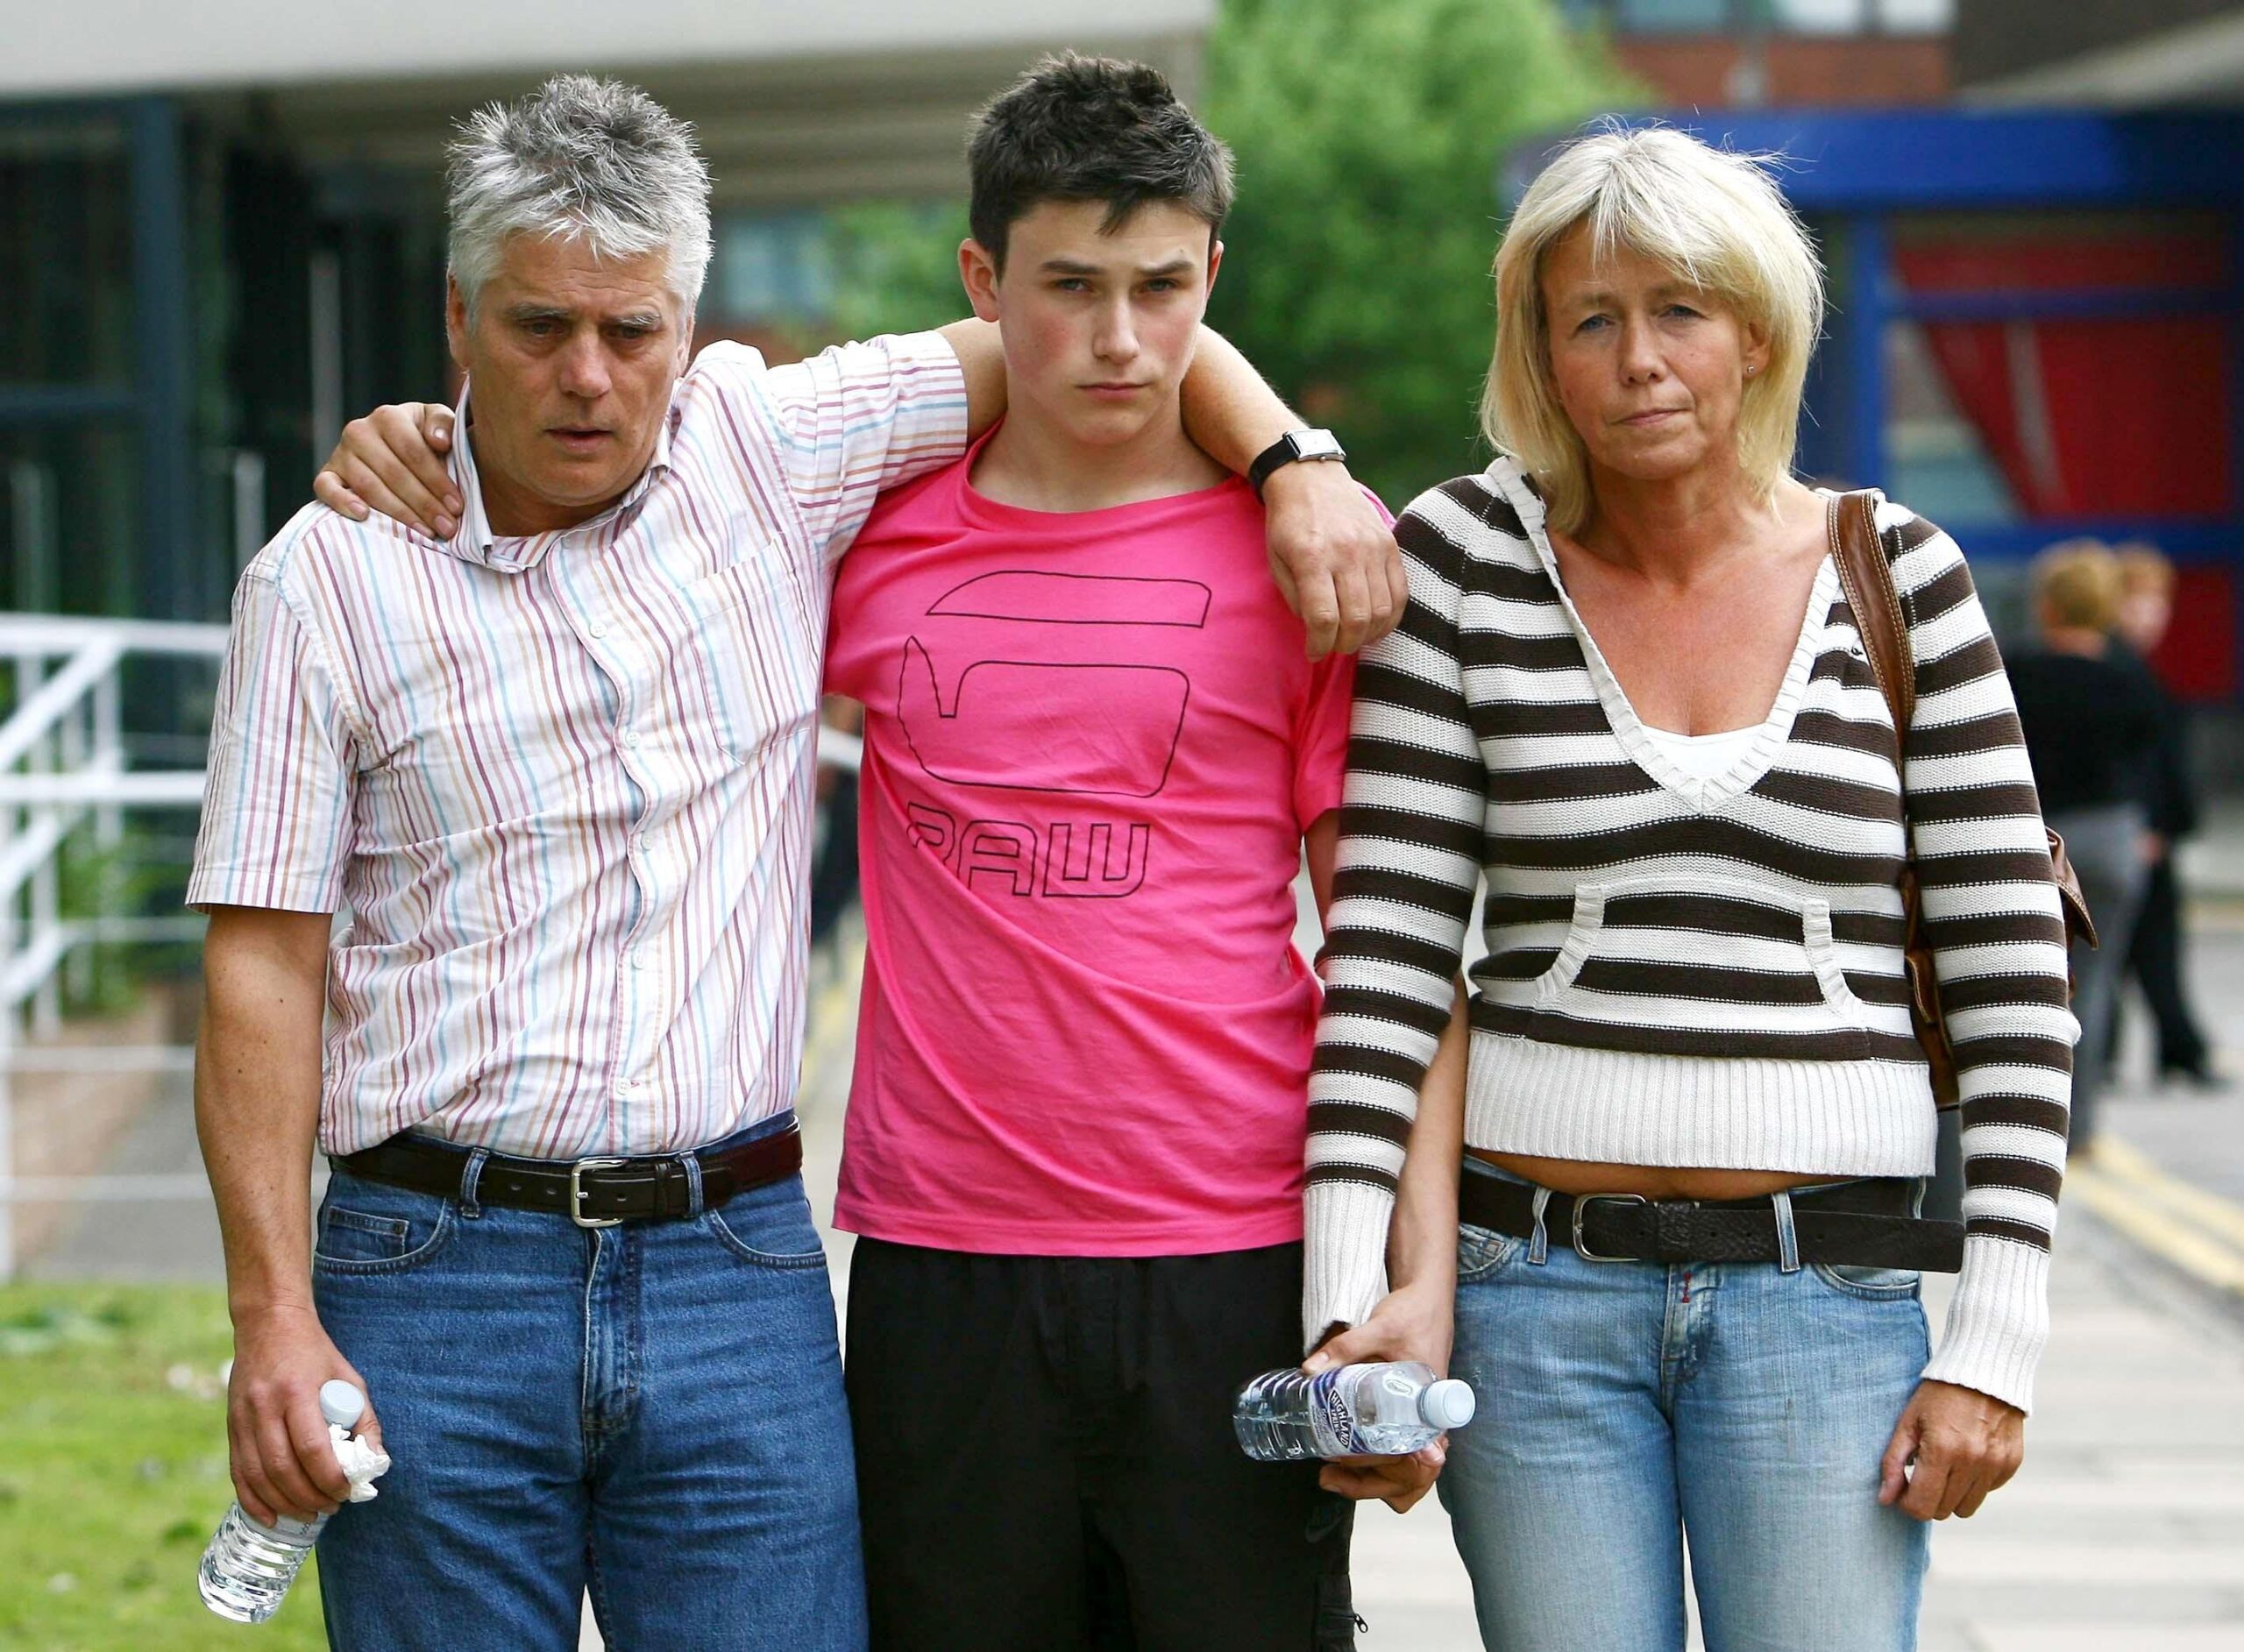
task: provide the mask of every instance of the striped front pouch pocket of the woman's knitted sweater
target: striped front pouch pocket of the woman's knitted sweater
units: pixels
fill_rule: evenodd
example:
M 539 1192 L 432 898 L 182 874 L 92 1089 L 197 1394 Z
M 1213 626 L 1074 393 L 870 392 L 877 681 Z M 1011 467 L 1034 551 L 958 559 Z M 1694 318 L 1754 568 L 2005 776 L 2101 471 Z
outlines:
M 1519 1032 L 1661 1055 L 1851 1062 L 1869 1012 L 1831 902 L 1726 878 L 1618 878 L 1573 891 L 1566 938 L 1512 999 Z

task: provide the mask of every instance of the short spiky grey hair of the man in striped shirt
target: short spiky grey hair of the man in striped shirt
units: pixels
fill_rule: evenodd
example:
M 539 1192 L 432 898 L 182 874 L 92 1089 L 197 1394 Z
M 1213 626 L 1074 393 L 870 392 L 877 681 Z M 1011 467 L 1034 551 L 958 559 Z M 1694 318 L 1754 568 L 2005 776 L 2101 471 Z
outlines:
M 581 240 L 595 258 L 669 254 L 687 310 L 709 272 L 709 168 L 693 128 L 622 81 L 557 74 L 465 121 L 444 171 L 447 263 L 473 316 L 509 236 Z

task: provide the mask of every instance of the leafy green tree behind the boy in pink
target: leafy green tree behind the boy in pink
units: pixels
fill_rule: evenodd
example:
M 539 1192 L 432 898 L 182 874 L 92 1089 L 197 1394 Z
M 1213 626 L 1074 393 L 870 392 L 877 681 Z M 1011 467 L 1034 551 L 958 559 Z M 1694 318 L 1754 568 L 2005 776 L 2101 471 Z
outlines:
M 1210 323 L 1389 503 L 1470 469 L 1499 168 L 1636 90 L 1551 0 L 1225 0 L 1205 81 L 1196 110 L 1239 157 Z M 844 332 L 963 314 L 965 202 L 835 222 Z

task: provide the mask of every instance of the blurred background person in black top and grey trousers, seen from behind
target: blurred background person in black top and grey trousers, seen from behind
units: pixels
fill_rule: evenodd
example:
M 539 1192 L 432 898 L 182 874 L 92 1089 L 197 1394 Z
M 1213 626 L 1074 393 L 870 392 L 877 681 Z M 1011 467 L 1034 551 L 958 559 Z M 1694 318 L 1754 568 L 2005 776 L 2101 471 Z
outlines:
M 2118 557 L 2096 539 L 2042 550 L 2029 570 L 2035 646 L 2011 660 L 2017 721 L 2049 826 L 2064 837 L 2096 947 L 2076 945 L 2073 1149 L 2094 1154 L 2109 1082 L 2112 999 L 2150 880 L 2150 810 L 2163 696 L 2114 646 L 2125 590 Z

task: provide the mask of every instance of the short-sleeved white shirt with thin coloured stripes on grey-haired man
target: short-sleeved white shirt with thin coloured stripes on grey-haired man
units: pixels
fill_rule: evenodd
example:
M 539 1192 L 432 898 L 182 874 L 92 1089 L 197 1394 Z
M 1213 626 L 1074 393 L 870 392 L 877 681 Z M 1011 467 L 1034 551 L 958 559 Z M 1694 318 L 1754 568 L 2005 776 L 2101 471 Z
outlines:
M 301 512 L 245 570 L 195 905 L 350 911 L 321 1142 L 536 1158 L 718 1140 L 794 1100 L 833 559 L 965 451 L 936 334 L 765 370 L 711 346 L 568 532 Z

